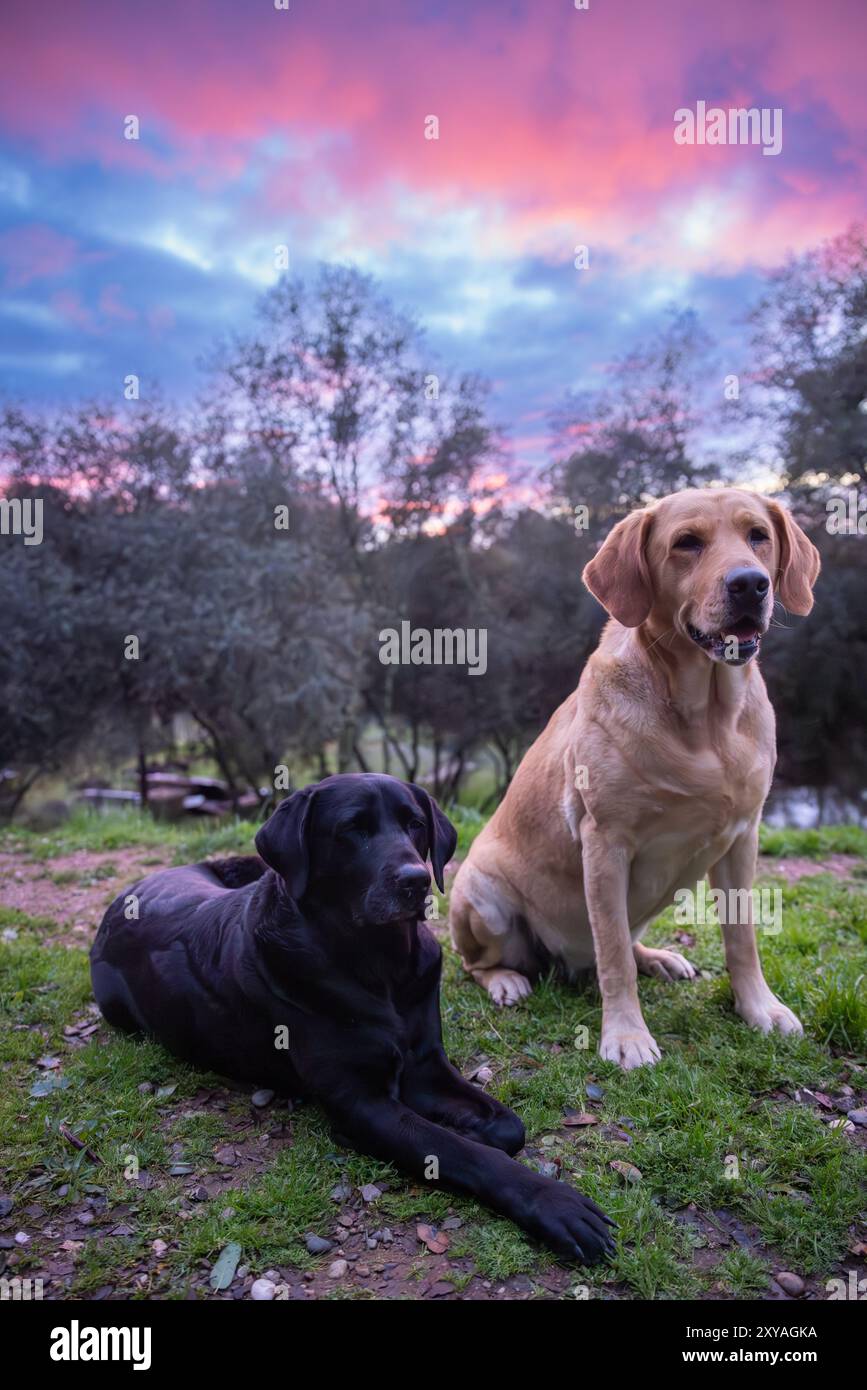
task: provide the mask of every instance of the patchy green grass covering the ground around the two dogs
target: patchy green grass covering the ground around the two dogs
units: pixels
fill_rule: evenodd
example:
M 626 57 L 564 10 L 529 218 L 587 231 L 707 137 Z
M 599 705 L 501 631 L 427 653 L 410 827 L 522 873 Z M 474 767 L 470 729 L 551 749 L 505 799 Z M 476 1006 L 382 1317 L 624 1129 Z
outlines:
M 465 849 L 484 821 L 474 812 L 454 819 Z M 182 862 L 246 849 L 251 828 L 208 823 L 190 830 L 154 826 L 138 813 L 90 813 L 49 835 L 7 831 L 3 847 L 50 859 L 81 848 L 143 844 L 163 859 Z M 864 853 L 861 831 L 767 835 L 774 853 L 784 852 L 781 845 L 799 856 L 823 858 L 843 847 Z M 572 1270 L 565 1297 L 574 1286 L 588 1284 L 606 1297 L 757 1298 L 774 1269 L 824 1282 L 839 1262 L 845 1266 L 849 1227 L 864 1208 L 863 1148 L 823 1123 L 828 1116 L 817 1106 L 798 1104 L 793 1093 L 809 1087 L 834 1094 L 845 1081 L 857 1090 L 866 1084 L 867 894 L 857 881 L 829 874 L 775 883 L 782 891 L 782 931 L 763 935 L 761 954 L 771 987 L 804 1023 L 803 1038 L 764 1038 L 735 1017 L 713 926 L 689 929 L 696 940 L 686 952 L 702 970 L 699 980 L 641 981 L 645 1016 L 663 1059 L 629 1074 L 596 1055 L 600 1005 L 592 987 L 545 980 L 524 1008 L 497 1011 L 446 952 L 442 1013 L 452 1058 L 461 1066 L 484 1058 L 493 1070 L 490 1088 L 525 1122 L 525 1161 L 559 1159 L 563 1176 L 620 1225 L 614 1264 Z M 218 1087 L 217 1079 L 203 1077 L 153 1042 L 107 1029 L 69 1049 L 64 1026 L 82 1017 L 90 1002 L 86 954 L 43 945 L 44 919 L 7 909 L 0 926 L 17 933 L 15 940 L 0 941 L 4 1191 L 17 1207 L 38 1201 L 53 1226 L 99 1191 L 110 1205 L 125 1204 L 124 1219 L 133 1229 L 129 1237 L 85 1243 L 75 1294 L 88 1297 L 111 1283 L 132 1297 L 183 1297 L 190 1277 L 200 1276 L 231 1240 L 254 1270 L 279 1264 L 310 1268 L 318 1261 L 307 1254 L 304 1234 L 331 1234 L 336 1207 L 329 1193 L 342 1177 L 353 1186 L 388 1182 L 371 1225 L 438 1223 L 456 1209 L 464 1222 L 449 1247 L 449 1258 L 459 1262 L 450 1275 L 457 1290 L 475 1269 L 493 1283 L 521 1273 L 542 1291 L 536 1279 L 552 1269 L 553 1257 L 475 1202 L 422 1191 L 375 1159 L 340 1151 L 314 1106 L 293 1116 L 292 1147 L 276 1148 L 261 1172 L 245 1173 L 218 1198 L 190 1208 L 183 1200 L 189 1177 L 174 1177 L 170 1168 L 189 1163 L 197 1180 L 217 1172 L 214 1151 L 246 1133 L 233 1126 L 249 1120 L 249 1099 L 224 1090 L 224 1111 L 192 1112 L 196 1093 Z M 675 930 L 667 915 L 647 941 L 671 942 Z M 586 1049 L 575 1045 L 579 1024 L 589 1030 Z M 68 1084 L 31 1095 L 35 1081 L 58 1074 L 38 1069 L 36 1059 L 44 1055 L 63 1056 Z M 599 1104 L 588 1099 L 591 1081 L 603 1087 Z M 143 1083 L 153 1088 L 139 1090 Z M 160 1087 L 174 1090 L 160 1095 Z M 593 1109 L 599 1123 L 565 1129 L 567 1108 Z M 83 1138 L 100 1162 L 71 1147 L 61 1125 Z M 624 1144 L 616 1131 L 632 1143 Z M 729 1155 L 736 1158 L 734 1177 Z M 131 1180 L 131 1161 L 154 1186 L 146 1190 Z M 635 1165 L 641 1180 L 624 1182 L 611 1168 L 618 1161 Z M 754 1243 L 713 1252 L 702 1226 L 685 1219 L 689 1204 L 711 1222 L 720 1213 L 736 1219 L 754 1233 Z M 158 1261 L 151 1254 L 157 1238 L 168 1245 Z M 25 1247 L 19 1270 L 38 1272 L 44 1248 L 39 1241 Z M 131 1270 L 140 1265 L 149 1269 L 144 1286 L 131 1283 Z M 420 1247 L 418 1276 L 428 1265 Z M 333 1297 L 342 1293 L 335 1290 Z

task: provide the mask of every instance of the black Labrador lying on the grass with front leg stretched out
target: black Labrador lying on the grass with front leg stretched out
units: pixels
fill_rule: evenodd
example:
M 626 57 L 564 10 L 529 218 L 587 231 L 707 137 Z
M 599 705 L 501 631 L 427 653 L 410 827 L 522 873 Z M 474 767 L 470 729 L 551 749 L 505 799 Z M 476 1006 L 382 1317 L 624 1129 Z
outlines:
M 456 842 L 420 787 L 327 777 L 278 806 L 256 837 L 261 859 L 165 869 L 115 898 L 90 952 L 93 990 L 110 1023 L 310 1095 L 352 1147 L 591 1264 L 611 1250 L 609 1218 L 507 1156 L 521 1120 L 443 1051 L 440 948 L 421 919 L 425 858 L 442 890 Z

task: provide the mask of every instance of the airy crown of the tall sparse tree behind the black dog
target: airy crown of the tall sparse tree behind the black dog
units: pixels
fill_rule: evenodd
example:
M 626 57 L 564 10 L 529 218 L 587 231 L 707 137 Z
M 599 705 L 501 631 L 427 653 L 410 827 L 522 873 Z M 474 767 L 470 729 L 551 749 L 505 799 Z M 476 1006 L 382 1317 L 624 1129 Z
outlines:
M 418 531 L 465 503 L 495 452 L 481 382 L 438 373 L 417 322 L 350 267 L 324 265 L 313 285 L 283 277 L 258 331 L 214 366 L 231 428 L 327 489 L 353 552 L 378 517 Z

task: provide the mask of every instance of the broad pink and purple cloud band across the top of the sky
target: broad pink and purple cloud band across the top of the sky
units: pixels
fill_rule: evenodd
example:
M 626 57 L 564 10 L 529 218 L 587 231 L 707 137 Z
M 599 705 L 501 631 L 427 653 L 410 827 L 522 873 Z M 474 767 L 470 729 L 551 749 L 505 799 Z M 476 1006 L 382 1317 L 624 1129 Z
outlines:
M 247 215 L 349 203 L 368 243 L 399 234 L 402 189 L 434 213 L 503 208 L 514 253 L 563 243 L 567 256 L 571 236 L 628 250 L 650 232 L 657 264 L 692 267 L 777 260 L 863 213 L 861 0 L 445 0 L 422 14 L 385 0 L 8 7 L 0 47 L 29 81 L 0 88 L 0 122 L 50 157 L 192 177 L 207 192 L 261 158 L 271 172 L 243 195 Z M 675 146 L 674 110 L 697 99 L 781 106 L 784 153 Z M 816 111 L 834 158 L 793 145 Z M 140 142 L 122 139 L 126 114 Z M 432 114 L 439 140 L 424 139 Z M 261 153 L 274 139 L 288 157 Z M 696 186 L 731 193 L 732 215 L 684 250 L 661 221 Z

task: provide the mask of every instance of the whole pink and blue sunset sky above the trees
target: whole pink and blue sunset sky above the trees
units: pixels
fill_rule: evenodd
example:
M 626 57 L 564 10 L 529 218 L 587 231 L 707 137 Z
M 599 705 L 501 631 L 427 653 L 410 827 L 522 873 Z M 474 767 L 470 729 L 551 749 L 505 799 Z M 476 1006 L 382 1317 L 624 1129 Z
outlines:
M 535 460 L 670 304 L 742 368 L 763 270 L 864 217 L 864 0 L 4 0 L 0 53 L 0 382 L 46 404 L 189 398 L 286 243 L 378 275 Z M 678 146 L 699 100 L 779 107 L 782 153 Z

